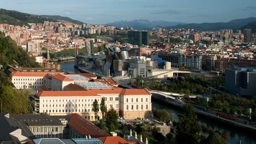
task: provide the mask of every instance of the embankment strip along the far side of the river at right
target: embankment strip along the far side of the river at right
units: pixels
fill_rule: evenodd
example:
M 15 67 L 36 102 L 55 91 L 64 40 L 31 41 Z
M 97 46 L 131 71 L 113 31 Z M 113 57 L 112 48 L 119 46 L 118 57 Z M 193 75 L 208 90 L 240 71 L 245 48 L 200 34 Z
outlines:
M 171 104 L 172 106 L 175 106 L 176 108 L 179 108 L 179 109 L 183 108 L 183 104 L 175 103 L 174 101 L 163 98 L 162 96 L 152 95 L 152 99 L 156 100 L 156 101 L 160 101 L 162 103 Z M 235 127 L 239 128 L 239 129 L 242 129 L 242 130 L 247 130 L 247 131 L 249 130 L 250 132 L 253 132 L 253 133 L 256 132 L 256 127 L 252 127 L 251 125 L 246 125 L 246 124 L 241 124 L 241 123 L 236 122 L 236 121 L 231 121 L 229 119 L 225 119 L 225 118 L 217 116 L 215 114 L 205 112 L 202 109 L 195 108 L 195 112 L 196 112 L 196 114 L 198 114 L 202 117 L 205 117 L 206 119 L 211 119 L 211 120 L 215 120 L 215 121 L 218 121 L 218 122 L 223 122 L 224 124 L 235 126 Z

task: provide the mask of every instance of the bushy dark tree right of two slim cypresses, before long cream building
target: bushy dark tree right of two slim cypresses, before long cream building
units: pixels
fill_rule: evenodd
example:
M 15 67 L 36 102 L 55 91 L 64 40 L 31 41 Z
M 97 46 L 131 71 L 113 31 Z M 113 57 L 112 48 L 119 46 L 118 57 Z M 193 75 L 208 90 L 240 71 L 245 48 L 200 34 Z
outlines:
M 118 114 L 112 106 L 109 111 L 106 112 L 106 125 L 110 132 L 113 132 L 118 128 Z

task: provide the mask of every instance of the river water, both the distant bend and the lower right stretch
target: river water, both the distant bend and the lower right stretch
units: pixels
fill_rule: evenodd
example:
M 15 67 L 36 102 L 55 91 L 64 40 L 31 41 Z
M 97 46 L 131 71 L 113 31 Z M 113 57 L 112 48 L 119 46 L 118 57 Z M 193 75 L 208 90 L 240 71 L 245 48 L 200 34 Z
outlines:
M 74 61 L 64 61 L 60 62 L 60 64 L 62 70 L 79 73 L 79 70 L 74 68 Z M 181 113 L 181 110 L 171 105 L 160 104 L 158 101 L 152 101 L 152 106 L 158 109 L 166 109 L 166 111 L 173 116 L 174 121 L 179 121 L 178 114 Z M 226 130 L 228 132 L 228 143 L 230 144 L 239 144 L 240 140 L 242 140 L 242 144 L 256 144 L 256 133 L 239 130 L 236 127 L 220 124 L 219 122 L 211 121 L 203 117 L 198 117 L 198 122 L 200 124 L 206 124 L 213 129 Z

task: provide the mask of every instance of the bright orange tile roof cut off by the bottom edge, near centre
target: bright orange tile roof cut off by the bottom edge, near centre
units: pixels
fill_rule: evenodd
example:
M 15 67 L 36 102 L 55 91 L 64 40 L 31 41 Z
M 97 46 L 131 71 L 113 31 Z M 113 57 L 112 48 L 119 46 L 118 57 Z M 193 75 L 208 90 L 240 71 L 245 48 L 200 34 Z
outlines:
M 101 140 L 101 142 L 103 142 L 104 144 L 132 144 L 132 143 L 137 144 L 138 143 L 138 142 L 128 142 L 127 140 L 121 137 L 101 137 L 98 139 Z

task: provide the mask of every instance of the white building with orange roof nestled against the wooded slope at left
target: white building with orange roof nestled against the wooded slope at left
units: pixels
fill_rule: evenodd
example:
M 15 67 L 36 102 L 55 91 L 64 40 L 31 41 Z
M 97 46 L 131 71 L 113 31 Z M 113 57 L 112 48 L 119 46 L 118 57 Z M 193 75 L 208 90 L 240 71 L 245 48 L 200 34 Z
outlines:
M 17 89 L 38 88 L 43 85 L 43 78 L 46 76 L 43 72 L 13 72 L 12 83 Z

